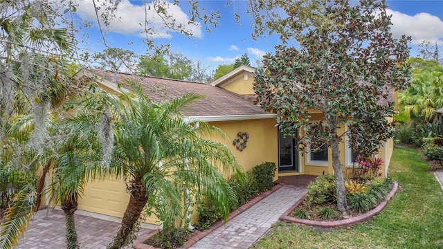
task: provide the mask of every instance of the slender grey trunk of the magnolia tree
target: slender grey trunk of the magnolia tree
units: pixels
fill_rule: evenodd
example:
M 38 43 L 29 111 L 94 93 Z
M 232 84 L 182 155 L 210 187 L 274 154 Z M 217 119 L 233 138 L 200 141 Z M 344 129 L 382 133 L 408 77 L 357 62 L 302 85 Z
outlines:
M 332 167 L 334 168 L 334 178 L 337 194 L 337 208 L 343 216 L 349 216 L 346 201 L 345 178 L 343 177 L 343 164 L 340 161 L 340 147 L 338 147 L 338 140 L 331 143 L 332 149 Z

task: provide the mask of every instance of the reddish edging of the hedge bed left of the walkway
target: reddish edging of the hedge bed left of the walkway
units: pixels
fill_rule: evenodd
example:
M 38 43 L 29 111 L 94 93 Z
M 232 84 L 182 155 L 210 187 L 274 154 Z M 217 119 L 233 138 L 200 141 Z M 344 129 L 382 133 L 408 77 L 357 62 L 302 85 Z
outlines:
M 255 197 L 251 201 L 248 201 L 247 203 L 245 203 L 241 207 L 237 208 L 237 210 L 234 210 L 233 212 L 231 212 L 229 214 L 228 218 L 226 219 L 226 222 L 230 221 L 231 219 L 233 219 L 235 216 L 241 214 L 242 212 L 248 210 L 248 208 L 251 208 L 256 203 L 262 201 L 262 199 L 266 198 L 266 196 L 269 196 L 269 194 L 272 194 L 276 190 L 280 189 L 280 187 L 282 187 L 282 184 L 278 183 L 271 190 L 263 192 L 262 194 Z M 188 241 L 183 243 L 183 245 L 180 248 L 183 248 L 183 249 L 190 248 L 195 243 L 197 243 L 197 241 L 199 241 L 200 239 L 203 239 L 204 237 L 206 237 L 206 235 L 210 234 L 211 232 L 215 231 L 217 228 L 221 227 L 221 225 L 224 225 L 224 222 L 217 221 L 216 223 L 211 225 L 210 228 L 207 230 L 204 230 L 204 231 L 195 230 L 195 232 L 192 233 L 192 237 Z M 154 246 L 150 246 L 150 245 L 143 243 L 143 241 L 147 241 L 147 239 L 150 239 L 150 237 L 154 236 L 158 232 L 159 232 L 159 230 L 155 230 L 154 232 L 147 234 L 145 237 L 143 237 L 141 239 L 137 239 L 137 241 L 132 244 L 132 248 L 134 248 L 134 249 L 157 249 Z

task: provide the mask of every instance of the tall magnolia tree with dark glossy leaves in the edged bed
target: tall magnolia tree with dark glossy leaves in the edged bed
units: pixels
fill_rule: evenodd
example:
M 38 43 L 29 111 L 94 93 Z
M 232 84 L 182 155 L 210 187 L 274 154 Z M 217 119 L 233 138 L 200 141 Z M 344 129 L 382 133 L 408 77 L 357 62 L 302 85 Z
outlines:
M 394 102 L 388 96 L 410 80 L 410 38 L 392 37 L 384 1 L 249 4 L 255 37 L 277 33 L 283 44 L 255 72 L 257 102 L 279 114 L 280 130 L 298 138 L 300 147 L 331 147 L 338 210 L 347 216 L 339 144 L 347 136 L 347 146 L 370 155 L 392 137 L 394 124 L 386 117 Z M 314 109 L 323 112 L 323 120 L 311 124 Z

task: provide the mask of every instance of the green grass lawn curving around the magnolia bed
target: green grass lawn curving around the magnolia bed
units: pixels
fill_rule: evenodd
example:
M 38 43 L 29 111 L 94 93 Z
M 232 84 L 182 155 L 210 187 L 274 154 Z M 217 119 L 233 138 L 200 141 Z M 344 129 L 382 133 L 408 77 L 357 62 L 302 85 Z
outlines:
M 443 248 L 443 191 L 418 149 L 396 146 L 390 178 L 399 191 L 374 219 L 319 230 L 278 222 L 252 248 Z

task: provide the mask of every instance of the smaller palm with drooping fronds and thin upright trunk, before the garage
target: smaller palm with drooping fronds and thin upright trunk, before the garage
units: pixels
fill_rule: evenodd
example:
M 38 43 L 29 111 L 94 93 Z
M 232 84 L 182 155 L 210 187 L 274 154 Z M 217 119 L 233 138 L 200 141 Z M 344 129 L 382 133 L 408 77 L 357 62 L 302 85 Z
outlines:
M 96 96 L 97 97 L 97 96 Z M 80 248 L 75 230 L 74 212 L 78 198 L 90 180 L 102 179 L 102 149 L 97 123 L 100 111 L 82 108 L 75 116 L 64 118 L 55 126 L 60 145 L 52 154 L 54 174 L 48 191 L 53 203 L 60 203 L 66 220 L 66 248 Z

